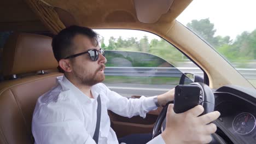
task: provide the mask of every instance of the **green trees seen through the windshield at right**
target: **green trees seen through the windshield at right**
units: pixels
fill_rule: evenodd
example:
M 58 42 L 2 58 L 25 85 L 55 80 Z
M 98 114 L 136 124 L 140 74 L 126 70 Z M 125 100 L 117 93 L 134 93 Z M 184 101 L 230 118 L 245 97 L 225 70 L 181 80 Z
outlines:
M 214 37 L 216 29 L 209 19 L 192 20 L 187 27 L 214 46 L 237 68 L 246 68 L 248 60 L 256 59 L 256 29 L 251 33 L 245 31 L 232 41 L 229 36 Z

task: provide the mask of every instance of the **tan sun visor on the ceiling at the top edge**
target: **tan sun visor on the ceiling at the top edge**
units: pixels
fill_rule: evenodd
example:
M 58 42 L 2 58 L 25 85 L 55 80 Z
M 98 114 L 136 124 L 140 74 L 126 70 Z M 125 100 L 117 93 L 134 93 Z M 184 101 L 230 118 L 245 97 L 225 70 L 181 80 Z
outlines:
M 166 14 L 174 0 L 133 0 L 137 18 L 140 22 L 155 23 Z

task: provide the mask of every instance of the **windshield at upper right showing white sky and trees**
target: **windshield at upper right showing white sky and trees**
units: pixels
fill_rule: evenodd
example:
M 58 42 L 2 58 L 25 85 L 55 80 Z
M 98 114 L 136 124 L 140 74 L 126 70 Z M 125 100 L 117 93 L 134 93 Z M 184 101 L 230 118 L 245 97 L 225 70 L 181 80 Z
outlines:
M 196 0 L 177 21 L 210 44 L 256 87 L 256 1 Z

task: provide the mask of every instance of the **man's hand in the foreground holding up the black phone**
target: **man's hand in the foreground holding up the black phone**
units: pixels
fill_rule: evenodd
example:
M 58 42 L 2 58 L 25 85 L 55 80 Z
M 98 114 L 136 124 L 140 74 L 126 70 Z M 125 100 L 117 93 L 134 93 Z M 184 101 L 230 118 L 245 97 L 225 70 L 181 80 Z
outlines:
M 198 117 L 203 112 L 201 105 L 195 106 L 183 113 L 175 113 L 173 104 L 168 106 L 166 114 L 166 128 L 161 134 L 165 143 L 209 143 L 217 127 L 211 123 L 216 120 L 218 111 L 207 113 Z M 210 124 L 209 124 L 210 123 Z

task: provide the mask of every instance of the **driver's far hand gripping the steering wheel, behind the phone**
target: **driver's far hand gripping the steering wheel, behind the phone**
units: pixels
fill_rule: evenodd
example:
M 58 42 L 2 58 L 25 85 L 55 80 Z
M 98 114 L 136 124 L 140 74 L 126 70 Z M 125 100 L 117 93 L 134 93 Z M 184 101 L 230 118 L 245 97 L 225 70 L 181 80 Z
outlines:
M 164 106 L 169 101 L 172 101 L 174 99 L 174 91 L 175 91 L 175 88 L 172 88 L 170 91 L 164 94 L 158 95 L 158 104 L 161 106 Z

